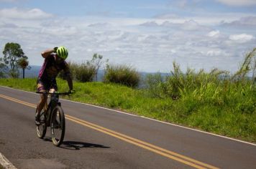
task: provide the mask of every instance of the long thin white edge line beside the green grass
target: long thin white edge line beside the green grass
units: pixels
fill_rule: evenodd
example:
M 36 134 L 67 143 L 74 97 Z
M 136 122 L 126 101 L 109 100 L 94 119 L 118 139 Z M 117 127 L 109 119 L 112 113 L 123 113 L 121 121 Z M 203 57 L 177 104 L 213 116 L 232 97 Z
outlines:
M 5 86 L 1 86 L 0 87 L 5 87 Z M 12 87 L 6 87 L 6 88 L 9 88 L 9 89 L 12 89 L 12 90 L 17 90 L 17 89 L 14 89 Z M 28 91 L 24 91 L 24 90 L 19 90 L 19 91 L 22 91 L 22 92 L 28 92 Z M 38 95 L 37 93 L 35 92 L 29 92 L 29 93 L 32 93 L 32 94 L 35 94 L 35 95 Z M 60 99 L 60 100 L 65 100 L 65 99 Z M 104 110 L 111 110 L 113 112 L 119 112 L 119 113 L 122 113 L 122 114 L 125 114 L 125 115 L 131 115 L 131 116 L 135 116 L 135 117 L 142 117 L 142 118 L 145 118 L 147 120 L 153 120 L 155 122 L 161 122 L 161 123 L 164 123 L 166 125 L 173 125 L 173 126 L 176 126 L 176 127 L 181 127 L 181 128 L 185 128 L 185 129 L 188 129 L 188 130 L 193 130 L 193 131 L 196 131 L 196 132 L 203 132 L 205 134 L 208 134 L 208 135 L 214 135 L 214 136 L 217 136 L 217 137 L 222 137 L 222 138 L 226 138 L 226 139 L 229 139 L 229 140 L 233 140 L 233 141 L 237 141 L 239 143 L 245 143 L 245 144 L 248 144 L 248 145 L 254 145 L 256 146 L 256 144 L 254 143 L 249 143 L 249 142 L 246 142 L 246 141 L 242 141 L 242 140 L 237 140 L 237 139 L 234 139 L 234 138 L 231 138 L 231 137 L 226 137 L 226 136 L 223 136 L 223 135 L 216 135 L 214 133 L 211 133 L 211 132 L 205 132 L 205 131 L 202 131 L 202 130 L 196 130 L 196 129 L 193 129 L 193 128 L 189 128 L 189 127 L 184 127 L 182 125 L 175 125 L 173 123 L 170 123 L 170 122 L 163 122 L 163 121 L 160 121 L 160 120 L 155 120 L 155 119 L 152 119 L 150 117 L 144 117 L 144 116 L 140 116 L 140 115 L 132 115 L 130 113 L 127 113 L 127 112 L 121 112 L 119 110 L 112 110 L 112 109 L 109 109 L 109 108 L 105 108 L 105 107 L 100 107 L 100 106 L 97 106 L 97 105 L 90 105 L 88 103 L 83 103 L 83 102 L 76 102 L 76 101 L 72 101 L 72 100 L 65 100 L 65 101 L 68 101 L 68 102 L 75 102 L 75 103 L 78 103 L 78 104 L 82 104 L 82 105 L 88 105 L 88 106 L 91 106 L 91 107 L 97 107 L 97 108 L 101 108 L 101 109 L 104 109 Z

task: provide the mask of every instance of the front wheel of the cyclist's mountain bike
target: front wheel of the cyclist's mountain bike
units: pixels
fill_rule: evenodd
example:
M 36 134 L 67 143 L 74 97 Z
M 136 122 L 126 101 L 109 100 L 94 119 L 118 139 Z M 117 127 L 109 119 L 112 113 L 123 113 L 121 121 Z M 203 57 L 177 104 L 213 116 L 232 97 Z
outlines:
M 65 135 L 65 115 L 63 109 L 59 105 L 52 110 L 50 127 L 53 145 L 60 146 L 60 144 L 63 143 Z

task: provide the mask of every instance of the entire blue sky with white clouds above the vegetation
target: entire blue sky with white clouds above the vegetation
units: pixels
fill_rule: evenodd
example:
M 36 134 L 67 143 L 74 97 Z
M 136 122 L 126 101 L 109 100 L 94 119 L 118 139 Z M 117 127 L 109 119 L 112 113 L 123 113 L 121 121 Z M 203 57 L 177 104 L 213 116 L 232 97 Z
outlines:
M 235 72 L 256 47 L 256 0 L 0 0 L 0 47 L 21 44 L 29 64 L 65 46 L 143 72 L 213 68 Z M 2 52 L 0 54 L 2 56 Z

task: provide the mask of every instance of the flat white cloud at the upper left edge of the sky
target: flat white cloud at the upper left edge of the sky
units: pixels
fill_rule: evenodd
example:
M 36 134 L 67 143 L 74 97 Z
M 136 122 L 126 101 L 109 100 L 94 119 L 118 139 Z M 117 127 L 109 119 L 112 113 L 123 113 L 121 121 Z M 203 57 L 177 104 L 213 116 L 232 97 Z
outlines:
M 4 19 L 46 19 L 52 17 L 40 9 L 1 9 L 0 18 Z

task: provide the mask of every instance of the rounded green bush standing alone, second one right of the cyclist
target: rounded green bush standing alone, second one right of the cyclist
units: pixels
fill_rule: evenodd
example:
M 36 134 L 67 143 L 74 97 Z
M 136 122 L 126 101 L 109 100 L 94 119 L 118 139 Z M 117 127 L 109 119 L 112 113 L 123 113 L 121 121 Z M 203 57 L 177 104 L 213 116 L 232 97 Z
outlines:
M 104 74 L 104 82 L 137 87 L 140 82 L 140 74 L 132 67 L 126 65 L 107 65 Z

